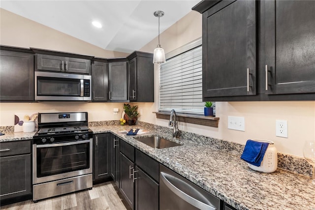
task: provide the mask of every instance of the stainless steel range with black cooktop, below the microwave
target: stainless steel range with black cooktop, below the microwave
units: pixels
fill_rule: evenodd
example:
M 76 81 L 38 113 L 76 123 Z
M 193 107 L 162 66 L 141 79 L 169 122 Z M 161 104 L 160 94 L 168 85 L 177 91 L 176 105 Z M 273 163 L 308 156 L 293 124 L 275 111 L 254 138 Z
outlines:
M 33 136 L 33 201 L 92 188 L 88 113 L 39 113 Z

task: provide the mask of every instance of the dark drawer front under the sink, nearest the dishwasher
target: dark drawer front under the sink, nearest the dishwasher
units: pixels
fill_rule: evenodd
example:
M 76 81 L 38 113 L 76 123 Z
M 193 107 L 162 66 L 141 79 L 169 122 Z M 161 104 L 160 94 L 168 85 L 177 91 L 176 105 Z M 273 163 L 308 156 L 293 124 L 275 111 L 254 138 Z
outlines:
M 153 179 L 158 181 L 159 164 L 157 161 L 143 153 L 136 150 L 136 165 L 143 169 Z

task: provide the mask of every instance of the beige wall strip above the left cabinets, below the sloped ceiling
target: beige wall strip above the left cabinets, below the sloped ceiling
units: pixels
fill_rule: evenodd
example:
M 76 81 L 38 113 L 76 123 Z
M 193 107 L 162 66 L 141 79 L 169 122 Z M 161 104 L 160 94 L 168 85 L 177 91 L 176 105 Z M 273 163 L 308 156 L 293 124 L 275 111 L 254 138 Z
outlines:
M 104 50 L 2 8 L 0 8 L 0 44 L 55 50 L 101 58 L 117 58 L 128 55 L 122 52 Z

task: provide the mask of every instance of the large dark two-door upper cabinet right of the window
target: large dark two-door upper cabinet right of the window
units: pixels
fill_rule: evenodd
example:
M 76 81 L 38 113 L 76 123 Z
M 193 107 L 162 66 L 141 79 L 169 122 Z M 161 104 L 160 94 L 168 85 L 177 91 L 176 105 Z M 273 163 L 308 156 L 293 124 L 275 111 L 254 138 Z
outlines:
M 204 101 L 315 100 L 315 1 L 204 0 Z

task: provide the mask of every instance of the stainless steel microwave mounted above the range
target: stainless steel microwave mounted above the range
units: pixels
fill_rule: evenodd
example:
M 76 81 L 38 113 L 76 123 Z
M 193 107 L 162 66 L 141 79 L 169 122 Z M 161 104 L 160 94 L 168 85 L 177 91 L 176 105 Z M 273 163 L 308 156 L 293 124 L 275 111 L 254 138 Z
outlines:
M 90 101 L 91 75 L 35 71 L 35 100 Z

